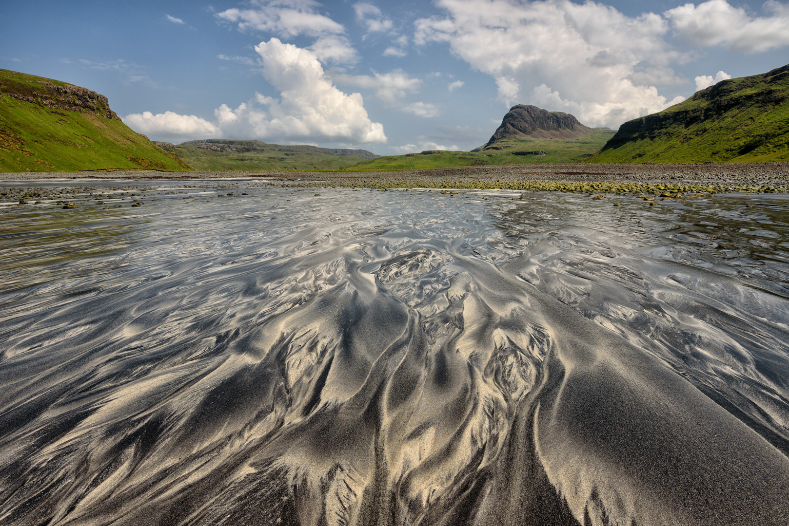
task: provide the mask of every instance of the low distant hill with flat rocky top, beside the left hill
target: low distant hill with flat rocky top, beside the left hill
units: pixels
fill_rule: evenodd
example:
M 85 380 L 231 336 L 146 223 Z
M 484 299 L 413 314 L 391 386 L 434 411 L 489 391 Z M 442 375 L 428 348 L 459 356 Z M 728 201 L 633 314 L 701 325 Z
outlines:
M 157 143 L 196 170 L 340 170 L 378 157 L 366 150 L 281 146 L 259 140 L 208 139 Z

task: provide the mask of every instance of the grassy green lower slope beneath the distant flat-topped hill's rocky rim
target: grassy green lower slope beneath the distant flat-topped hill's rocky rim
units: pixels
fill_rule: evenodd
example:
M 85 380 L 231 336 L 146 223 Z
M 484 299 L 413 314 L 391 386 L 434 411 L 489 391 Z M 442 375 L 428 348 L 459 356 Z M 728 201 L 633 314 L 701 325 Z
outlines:
M 262 144 L 262 143 L 261 143 Z M 194 144 L 167 147 L 195 170 L 341 170 L 363 161 L 357 155 L 331 155 L 298 146 L 265 144 L 261 150 L 213 151 Z

